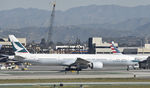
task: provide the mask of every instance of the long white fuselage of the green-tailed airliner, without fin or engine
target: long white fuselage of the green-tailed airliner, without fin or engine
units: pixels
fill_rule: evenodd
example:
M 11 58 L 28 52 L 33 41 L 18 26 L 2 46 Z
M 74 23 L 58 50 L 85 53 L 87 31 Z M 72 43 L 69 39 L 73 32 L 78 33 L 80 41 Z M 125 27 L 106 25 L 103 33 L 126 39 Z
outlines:
M 101 62 L 104 65 L 134 65 L 135 58 L 128 55 L 114 55 L 114 54 L 19 54 L 24 57 L 24 61 L 35 64 L 44 65 L 61 65 L 67 66 L 74 63 L 77 58 L 82 58 L 91 63 Z

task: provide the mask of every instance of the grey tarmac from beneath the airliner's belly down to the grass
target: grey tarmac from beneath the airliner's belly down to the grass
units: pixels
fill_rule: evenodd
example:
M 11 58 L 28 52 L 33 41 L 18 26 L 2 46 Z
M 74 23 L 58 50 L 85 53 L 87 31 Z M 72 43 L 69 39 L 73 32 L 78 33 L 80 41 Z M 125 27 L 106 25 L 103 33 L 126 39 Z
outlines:
M 28 71 L 0 71 L 0 79 L 150 78 L 150 70 L 127 71 L 125 67 L 83 70 L 79 74 L 76 72 L 67 72 L 65 74 L 64 71 L 61 71 L 62 68 L 32 66 Z

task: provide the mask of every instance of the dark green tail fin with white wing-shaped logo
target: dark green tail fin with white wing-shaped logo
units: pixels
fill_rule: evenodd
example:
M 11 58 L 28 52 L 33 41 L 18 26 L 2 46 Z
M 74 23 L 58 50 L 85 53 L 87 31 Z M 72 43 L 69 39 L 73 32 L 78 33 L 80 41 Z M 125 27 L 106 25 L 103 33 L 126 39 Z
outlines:
M 15 53 L 29 53 L 29 51 L 19 42 L 14 35 L 9 35 Z

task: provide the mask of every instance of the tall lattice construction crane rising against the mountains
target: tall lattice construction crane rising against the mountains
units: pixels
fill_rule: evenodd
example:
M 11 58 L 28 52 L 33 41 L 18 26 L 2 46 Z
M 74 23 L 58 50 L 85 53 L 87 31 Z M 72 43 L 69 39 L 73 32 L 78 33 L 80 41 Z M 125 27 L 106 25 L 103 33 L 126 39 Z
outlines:
M 52 13 L 51 13 L 51 17 L 50 17 L 50 26 L 49 26 L 49 30 L 48 30 L 48 36 L 47 36 L 47 46 L 50 46 L 50 43 L 52 43 L 52 32 L 53 32 L 53 24 L 54 24 L 54 17 L 55 17 L 55 6 L 56 6 L 56 1 L 52 2 Z

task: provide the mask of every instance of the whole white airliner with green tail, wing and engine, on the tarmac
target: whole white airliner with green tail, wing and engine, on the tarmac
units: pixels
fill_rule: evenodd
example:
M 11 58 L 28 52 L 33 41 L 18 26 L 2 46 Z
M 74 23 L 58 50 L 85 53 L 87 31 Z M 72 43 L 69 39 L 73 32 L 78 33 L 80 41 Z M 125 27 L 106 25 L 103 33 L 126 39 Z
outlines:
M 137 61 L 132 56 L 114 54 L 31 54 L 14 35 L 9 35 L 18 61 L 38 65 L 67 66 L 65 71 L 83 69 L 102 69 L 105 65 L 135 65 Z

